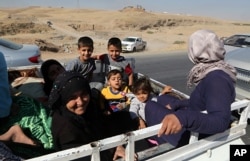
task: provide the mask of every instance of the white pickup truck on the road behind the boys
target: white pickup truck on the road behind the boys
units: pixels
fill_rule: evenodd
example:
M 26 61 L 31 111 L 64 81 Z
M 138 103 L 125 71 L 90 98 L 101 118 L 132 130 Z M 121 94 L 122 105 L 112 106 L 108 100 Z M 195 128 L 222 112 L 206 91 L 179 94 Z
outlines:
M 147 42 L 143 41 L 140 37 L 126 37 L 122 40 L 123 52 L 136 52 L 139 50 L 145 50 Z

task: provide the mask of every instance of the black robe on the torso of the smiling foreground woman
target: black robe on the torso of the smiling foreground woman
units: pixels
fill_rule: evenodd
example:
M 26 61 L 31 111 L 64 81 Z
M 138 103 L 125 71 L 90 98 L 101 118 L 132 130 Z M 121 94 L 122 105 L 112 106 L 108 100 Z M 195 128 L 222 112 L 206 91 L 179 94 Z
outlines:
M 66 108 L 55 110 L 52 116 L 52 135 L 56 150 L 68 149 L 104 137 L 102 118 L 91 103 L 82 116 Z

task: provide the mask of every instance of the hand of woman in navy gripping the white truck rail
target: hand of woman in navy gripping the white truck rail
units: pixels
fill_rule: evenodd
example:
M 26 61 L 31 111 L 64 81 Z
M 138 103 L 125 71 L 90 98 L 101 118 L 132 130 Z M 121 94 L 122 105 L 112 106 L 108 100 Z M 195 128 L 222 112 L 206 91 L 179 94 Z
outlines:
M 182 125 L 179 119 L 174 114 L 166 115 L 162 120 L 162 126 L 158 132 L 158 137 L 162 136 L 163 134 L 176 134 L 180 132 L 181 129 Z

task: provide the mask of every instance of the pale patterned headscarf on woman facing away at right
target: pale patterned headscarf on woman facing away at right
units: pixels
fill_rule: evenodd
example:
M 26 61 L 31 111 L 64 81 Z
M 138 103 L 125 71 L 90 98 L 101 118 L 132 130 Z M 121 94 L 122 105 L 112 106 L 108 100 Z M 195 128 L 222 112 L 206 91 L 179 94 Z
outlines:
M 236 82 L 236 70 L 224 61 L 224 44 L 210 30 L 198 30 L 189 38 L 188 57 L 195 64 L 188 75 L 188 87 L 197 85 L 209 72 L 223 70 Z

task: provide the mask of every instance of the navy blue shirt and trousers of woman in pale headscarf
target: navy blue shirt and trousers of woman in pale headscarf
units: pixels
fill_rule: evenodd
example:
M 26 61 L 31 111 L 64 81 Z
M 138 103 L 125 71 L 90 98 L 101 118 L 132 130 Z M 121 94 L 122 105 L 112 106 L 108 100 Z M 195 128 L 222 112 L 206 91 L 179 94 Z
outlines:
M 145 116 L 148 125 L 152 126 L 161 123 L 167 114 L 175 114 L 182 124 L 181 132 L 156 139 L 159 143 L 169 142 L 174 146 L 181 146 L 188 142 L 189 131 L 208 135 L 225 131 L 230 124 L 231 104 L 234 101 L 233 80 L 224 71 L 215 70 L 199 82 L 189 100 L 176 100 L 168 95 L 159 96 L 157 102 L 147 102 Z M 174 110 L 165 107 L 168 103 L 171 107 L 175 105 Z

